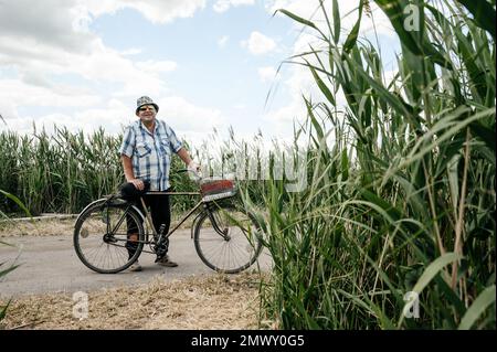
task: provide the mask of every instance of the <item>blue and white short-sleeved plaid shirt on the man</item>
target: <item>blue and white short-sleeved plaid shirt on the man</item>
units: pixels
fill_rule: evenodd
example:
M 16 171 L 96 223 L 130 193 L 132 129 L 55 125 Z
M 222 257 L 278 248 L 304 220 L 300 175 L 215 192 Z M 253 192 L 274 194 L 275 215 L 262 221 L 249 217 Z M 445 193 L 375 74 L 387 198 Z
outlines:
M 165 121 L 156 119 L 154 134 L 140 120 L 129 125 L 123 137 L 119 153 L 131 158 L 135 178 L 150 181 L 151 191 L 166 191 L 169 184 L 171 154 L 182 143 Z

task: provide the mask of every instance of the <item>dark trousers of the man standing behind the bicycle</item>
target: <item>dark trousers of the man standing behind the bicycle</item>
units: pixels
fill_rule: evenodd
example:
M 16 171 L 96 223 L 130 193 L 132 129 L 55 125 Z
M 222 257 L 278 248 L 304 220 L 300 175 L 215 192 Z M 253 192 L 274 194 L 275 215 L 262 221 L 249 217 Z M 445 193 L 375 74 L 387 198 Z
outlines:
M 126 183 L 121 188 L 121 192 L 127 194 L 133 194 L 133 189 L 135 189 L 135 185 L 133 183 Z M 129 191 L 129 192 L 127 192 Z M 171 224 L 171 207 L 169 205 L 169 195 L 168 194 L 146 194 L 142 196 L 146 206 L 150 209 L 150 216 L 152 220 L 154 227 L 157 232 L 159 232 L 159 228 L 163 224 L 163 234 L 166 235 L 169 232 L 169 226 Z M 128 199 L 129 200 L 129 199 Z M 135 203 L 135 205 L 140 210 L 140 212 L 145 215 L 144 206 L 141 204 L 141 201 L 139 196 L 134 198 L 130 200 Z M 128 239 L 131 234 L 138 234 L 138 228 L 135 225 L 135 222 L 131 220 L 131 217 L 127 217 L 127 233 L 128 233 Z M 141 221 L 141 218 L 140 218 Z M 169 239 L 166 238 L 166 241 L 162 243 L 165 246 L 166 253 L 169 248 Z M 136 252 L 136 243 L 133 241 L 128 241 L 126 243 L 126 248 L 128 249 L 129 257 L 133 256 Z

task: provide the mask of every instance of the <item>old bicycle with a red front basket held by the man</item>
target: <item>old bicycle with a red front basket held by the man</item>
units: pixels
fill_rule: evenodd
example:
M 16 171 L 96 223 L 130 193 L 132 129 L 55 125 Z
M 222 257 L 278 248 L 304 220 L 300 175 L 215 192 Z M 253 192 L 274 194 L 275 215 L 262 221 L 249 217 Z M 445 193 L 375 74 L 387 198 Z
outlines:
M 184 172 L 187 170 L 180 170 Z M 112 194 L 89 203 L 78 215 L 73 243 L 77 256 L 85 266 L 101 274 L 116 274 L 131 266 L 144 253 L 159 255 L 165 250 L 163 243 L 197 210 L 191 226 L 191 238 L 200 259 L 211 269 L 236 274 L 248 268 L 262 252 L 261 231 L 253 216 L 235 206 L 233 200 L 237 193 L 231 180 L 203 179 L 198 182 L 199 192 L 146 192 L 145 194 L 169 194 L 200 196 L 168 234 L 154 227 L 150 213 L 142 204 L 144 213 L 134 202 Z M 146 232 L 147 222 L 151 233 Z M 134 225 L 138 230 L 136 252 L 129 258 L 126 247 L 127 228 Z M 150 250 L 146 248 L 148 246 Z

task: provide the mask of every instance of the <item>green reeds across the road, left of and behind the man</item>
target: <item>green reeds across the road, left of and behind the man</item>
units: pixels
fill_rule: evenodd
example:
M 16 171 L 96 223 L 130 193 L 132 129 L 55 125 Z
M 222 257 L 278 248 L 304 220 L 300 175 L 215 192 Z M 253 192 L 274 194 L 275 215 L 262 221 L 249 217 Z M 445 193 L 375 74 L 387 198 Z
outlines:
M 89 202 L 117 192 L 125 181 L 118 156 L 123 136 L 109 136 L 103 128 L 85 136 L 55 127 L 19 135 L 0 134 L 0 190 L 15 194 L 33 214 L 56 212 L 77 213 Z M 172 172 L 184 168 L 173 158 Z M 191 191 L 192 182 L 172 174 L 178 191 Z M 176 211 L 183 211 L 193 200 L 172 201 Z M 0 198 L 0 212 L 19 213 L 19 202 L 12 196 Z

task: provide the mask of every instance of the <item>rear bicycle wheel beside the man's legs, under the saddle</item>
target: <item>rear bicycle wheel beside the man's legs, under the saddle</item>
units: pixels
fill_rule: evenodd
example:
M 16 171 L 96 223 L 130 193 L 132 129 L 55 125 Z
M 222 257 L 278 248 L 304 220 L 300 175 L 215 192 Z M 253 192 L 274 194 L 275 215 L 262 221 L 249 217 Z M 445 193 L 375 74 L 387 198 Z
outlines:
M 136 228 L 138 242 L 127 241 L 128 226 Z M 135 210 L 127 204 L 115 205 L 101 200 L 77 217 L 74 248 L 81 262 L 92 270 L 115 274 L 127 269 L 139 257 L 144 248 L 144 233 L 142 223 Z

